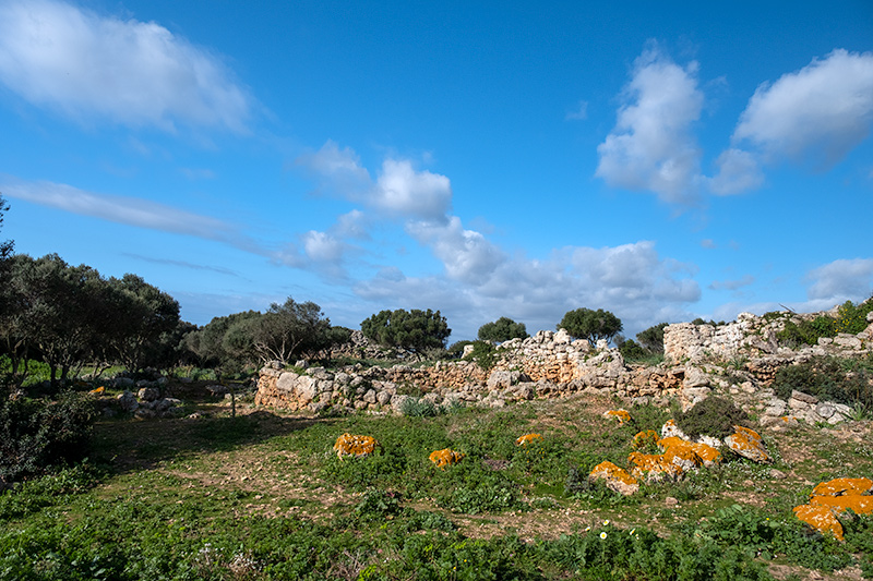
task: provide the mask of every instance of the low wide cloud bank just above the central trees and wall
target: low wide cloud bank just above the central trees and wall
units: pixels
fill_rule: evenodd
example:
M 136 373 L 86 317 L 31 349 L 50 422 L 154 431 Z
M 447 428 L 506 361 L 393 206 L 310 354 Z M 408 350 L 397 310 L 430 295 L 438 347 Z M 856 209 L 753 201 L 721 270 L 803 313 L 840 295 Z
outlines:
M 475 337 L 480 325 L 500 316 L 523 322 L 530 331 L 554 329 L 564 313 L 582 306 L 608 308 L 627 331 L 636 332 L 661 320 L 690 320 L 687 305 L 701 295 L 690 278 L 696 270 L 693 265 L 662 258 L 645 241 L 602 249 L 571 246 L 545 261 L 504 256 L 492 266 L 489 276 L 475 279 L 392 271 L 355 290 L 394 307 L 439 307 L 457 338 Z

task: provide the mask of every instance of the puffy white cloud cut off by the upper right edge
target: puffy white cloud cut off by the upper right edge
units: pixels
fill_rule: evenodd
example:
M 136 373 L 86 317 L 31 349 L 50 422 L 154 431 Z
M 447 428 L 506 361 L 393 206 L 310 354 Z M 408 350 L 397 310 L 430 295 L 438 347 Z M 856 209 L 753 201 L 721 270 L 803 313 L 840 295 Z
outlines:
M 733 141 L 748 141 L 768 158 L 787 156 L 826 169 L 866 138 L 871 123 L 873 53 L 837 49 L 762 84 Z

